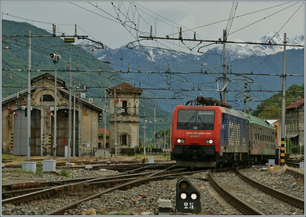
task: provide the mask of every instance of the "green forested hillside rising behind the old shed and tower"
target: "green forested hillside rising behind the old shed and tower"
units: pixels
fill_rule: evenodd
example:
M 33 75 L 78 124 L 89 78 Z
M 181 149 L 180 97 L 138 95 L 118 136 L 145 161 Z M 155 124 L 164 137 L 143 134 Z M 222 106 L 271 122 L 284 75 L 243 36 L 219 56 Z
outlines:
M 52 29 L 52 25 L 50 25 L 50 29 Z M 8 35 L 7 37 L 2 37 L 2 45 L 10 47 L 9 49 L 2 49 L 1 53 L 2 98 L 27 89 L 29 37 L 26 36 L 29 35 L 29 31 L 31 31 L 32 36 L 30 64 L 31 79 L 44 73 L 54 74 L 54 63 L 49 58 L 49 53 L 56 53 L 61 55 L 61 60 L 57 63 L 57 77 L 63 79 L 67 86 L 69 85 L 67 64 L 69 63 L 69 59 L 71 59 L 71 69 L 73 70 L 72 86 L 74 86 L 74 83 L 76 86 L 79 86 L 80 81 L 80 86 L 89 87 L 89 89 L 87 89 L 88 92 L 86 92 L 86 97 L 93 98 L 93 102 L 101 107 L 103 107 L 105 102 L 105 90 L 126 82 L 122 79 L 110 80 L 110 73 L 108 73 L 108 71 L 114 71 L 114 68 L 110 64 L 100 61 L 80 46 L 65 43 L 63 37 L 52 37 L 52 34 L 46 30 L 36 28 L 25 22 L 2 20 L 2 35 Z M 21 35 L 24 35 L 24 37 L 21 37 Z M 87 46 L 87 49 L 91 50 L 92 48 L 92 45 Z M 99 72 L 99 69 L 101 69 L 101 72 Z M 134 85 L 134 83 L 131 83 L 131 85 Z M 147 99 L 147 95 L 149 94 L 144 91 L 140 98 L 140 119 L 144 114 L 144 106 L 146 106 L 146 116 L 149 116 L 147 117 L 147 121 L 153 122 L 153 117 L 151 116 L 154 116 L 155 108 L 155 115 L 157 116 L 156 122 L 158 122 L 155 126 L 156 132 L 161 129 L 169 128 L 172 120 L 171 114 L 164 112 L 158 104 L 155 105 L 155 101 Z M 110 106 L 109 100 L 107 106 Z M 109 116 L 107 114 L 106 127 L 108 127 L 108 119 Z M 100 127 L 103 126 L 101 125 Z M 146 128 L 147 134 L 152 135 L 153 124 L 147 124 Z M 140 130 L 140 137 L 143 137 L 142 130 Z

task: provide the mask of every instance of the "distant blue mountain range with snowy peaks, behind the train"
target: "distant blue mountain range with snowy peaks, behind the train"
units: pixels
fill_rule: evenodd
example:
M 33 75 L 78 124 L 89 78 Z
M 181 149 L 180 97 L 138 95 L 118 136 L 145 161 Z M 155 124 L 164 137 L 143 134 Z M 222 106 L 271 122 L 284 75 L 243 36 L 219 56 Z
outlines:
M 241 39 L 234 39 L 235 42 L 243 42 Z M 253 41 L 256 43 L 283 44 L 283 36 L 275 32 L 268 32 L 260 39 Z M 304 45 L 304 35 L 296 35 L 294 37 L 286 37 L 288 45 Z M 82 44 L 90 45 L 91 42 L 84 41 Z M 90 52 L 91 49 L 89 49 Z M 158 86 L 167 89 L 196 89 L 201 86 L 201 91 L 194 90 L 194 94 L 210 95 L 211 92 L 203 92 L 205 84 L 209 84 L 208 89 L 217 88 L 215 82 L 216 76 L 193 74 L 190 72 L 223 72 L 222 56 L 223 45 L 219 44 L 214 48 L 203 52 L 201 55 L 193 53 L 176 52 L 173 50 L 152 48 L 141 46 L 139 42 L 129 43 L 127 46 L 121 46 L 112 50 L 104 45 L 104 49 L 94 49 L 95 57 L 100 60 L 111 63 L 110 66 L 115 71 L 128 72 L 174 72 L 173 74 L 152 74 L 148 73 L 114 73 L 112 79 L 118 75 L 131 82 L 138 83 L 141 81 L 141 88 L 152 88 Z M 287 53 L 287 74 L 303 74 L 304 73 L 304 47 L 286 46 Z M 212 55 L 217 54 L 217 55 Z M 226 73 L 254 73 L 254 74 L 282 74 L 283 67 L 283 46 L 269 45 L 253 45 L 242 43 L 226 43 Z M 230 68 L 230 69 L 228 69 Z M 230 71 L 230 72 L 229 72 Z M 177 72 L 186 74 L 179 74 Z M 150 73 L 149 73 L 150 74 Z M 235 75 L 227 75 L 231 79 L 237 79 Z M 252 76 L 251 76 L 252 77 Z M 282 79 L 275 76 L 254 76 L 254 83 L 260 84 L 260 88 L 266 90 L 281 90 Z M 288 86 L 293 83 L 301 84 L 304 79 L 298 76 L 291 76 L 286 82 Z M 273 81 L 273 85 L 271 85 Z M 204 85 L 204 87 L 203 87 Z M 256 86 L 256 88 L 259 88 Z M 154 92 L 154 91 L 153 91 Z M 175 92 L 175 91 L 174 91 Z M 177 91 L 180 92 L 180 91 Z M 176 93 L 176 92 L 175 92 Z M 177 94 L 180 95 L 180 94 Z M 184 94 L 181 94 L 181 97 Z M 173 95 L 176 97 L 176 94 Z M 228 95 L 230 100 L 235 100 Z M 233 99 L 232 99 L 233 98 Z M 158 100 L 161 101 L 161 100 Z M 161 104 L 165 111 L 169 111 L 167 103 Z

